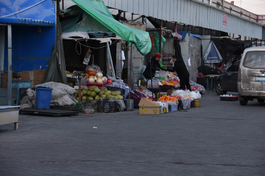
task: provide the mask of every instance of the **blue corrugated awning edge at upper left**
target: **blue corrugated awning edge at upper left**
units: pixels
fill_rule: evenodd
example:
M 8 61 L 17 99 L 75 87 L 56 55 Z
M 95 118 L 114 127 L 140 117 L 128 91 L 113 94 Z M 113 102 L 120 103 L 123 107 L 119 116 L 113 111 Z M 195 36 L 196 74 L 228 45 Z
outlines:
M 53 27 L 54 22 L 47 22 L 42 20 L 20 19 L 20 18 L 0 18 L 0 23 L 4 24 L 18 24 L 18 25 L 34 25 Z

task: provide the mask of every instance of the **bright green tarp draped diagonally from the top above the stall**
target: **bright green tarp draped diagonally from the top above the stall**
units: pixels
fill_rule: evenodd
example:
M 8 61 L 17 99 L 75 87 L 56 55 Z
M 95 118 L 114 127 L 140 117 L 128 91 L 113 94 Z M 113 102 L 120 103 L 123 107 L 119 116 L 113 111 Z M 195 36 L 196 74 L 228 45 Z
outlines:
M 85 12 L 105 25 L 109 30 L 127 42 L 135 44 L 137 50 L 146 55 L 151 51 L 152 44 L 149 33 L 116 21 L 101 0 L 72 0 Z

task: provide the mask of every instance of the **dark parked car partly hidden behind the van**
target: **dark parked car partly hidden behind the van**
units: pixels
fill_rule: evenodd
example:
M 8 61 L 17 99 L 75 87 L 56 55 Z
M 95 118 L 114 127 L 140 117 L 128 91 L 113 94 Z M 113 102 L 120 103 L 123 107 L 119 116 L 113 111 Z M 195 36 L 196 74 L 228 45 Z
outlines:
M 226 94 L 227 91 L 238 92 L 238 68 L 240 60 L 232 64 L 225 72 L 216 78 L 215 92 L 218 95 Z

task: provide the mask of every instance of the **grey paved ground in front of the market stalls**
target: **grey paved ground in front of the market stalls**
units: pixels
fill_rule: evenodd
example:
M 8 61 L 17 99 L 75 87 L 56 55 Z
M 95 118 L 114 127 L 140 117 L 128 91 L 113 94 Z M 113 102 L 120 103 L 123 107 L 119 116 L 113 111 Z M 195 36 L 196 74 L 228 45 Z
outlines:
M 20 114 L 0 126 L 0 176 L 265 176 L 264 110 L 206 92 L 161 115 Z

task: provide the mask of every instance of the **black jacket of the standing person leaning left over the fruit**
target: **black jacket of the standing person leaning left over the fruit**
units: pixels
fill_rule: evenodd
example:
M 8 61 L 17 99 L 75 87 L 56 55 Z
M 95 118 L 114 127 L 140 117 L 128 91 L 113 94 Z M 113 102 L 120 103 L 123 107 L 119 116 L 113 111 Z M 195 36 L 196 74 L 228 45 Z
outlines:
M 185 66 L 185 63 L 182 59 L 177 59 L 177 61 L 174 63 L 174 67 L 172 69 L 166 70 L 171 72 L 176 71 L 180 79 L 189 77 L 187 67 Z

